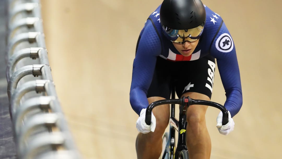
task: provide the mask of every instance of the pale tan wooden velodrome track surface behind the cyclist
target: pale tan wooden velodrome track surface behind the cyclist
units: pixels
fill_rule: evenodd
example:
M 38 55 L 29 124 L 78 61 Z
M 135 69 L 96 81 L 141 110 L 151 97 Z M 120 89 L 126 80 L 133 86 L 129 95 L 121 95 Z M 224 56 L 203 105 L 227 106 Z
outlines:
M 56 90 L 85 159 L 136 158 L 138 115 L 129 103 L 132 64 L 144 22 L 161 2 L 41 1 Z M 208 109 L 211 158 L 281 158 L 281 1 L 203 3 L 224 19 L 233 37 L 243 89 L 243 106 L 230 135 L 218 133 L 218 110 Z M 225 101 L 218 70 L 211 100 Z

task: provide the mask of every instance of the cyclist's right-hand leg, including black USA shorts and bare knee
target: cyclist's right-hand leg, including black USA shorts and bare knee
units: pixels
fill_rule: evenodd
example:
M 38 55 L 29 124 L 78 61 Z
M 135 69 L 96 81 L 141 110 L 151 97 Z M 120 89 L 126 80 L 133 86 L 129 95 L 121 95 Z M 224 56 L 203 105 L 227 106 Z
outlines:
M 210 100 L 215 59 L 207 55 L 194 61 L 181 62 L 176 72 L 176 93 L 178 97 Z M 191 159 L 208 159 L 211 154 L 211 140 L 206 127 L 208 106 L 192 105 L 187 111 L 186 143 Z

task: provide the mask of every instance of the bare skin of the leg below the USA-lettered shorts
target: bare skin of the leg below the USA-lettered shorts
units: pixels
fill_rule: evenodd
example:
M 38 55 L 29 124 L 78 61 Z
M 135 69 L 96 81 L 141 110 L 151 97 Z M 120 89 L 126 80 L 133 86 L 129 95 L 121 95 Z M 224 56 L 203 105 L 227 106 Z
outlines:
M 210 100 L 201 93 L 188 92 L 184 96 L 193 99 Z M 191 159 L 209 159 L 211 139 L 206 127 L 206 110 L 208 106 L 192 105 L 187 109 L 186 143 Z

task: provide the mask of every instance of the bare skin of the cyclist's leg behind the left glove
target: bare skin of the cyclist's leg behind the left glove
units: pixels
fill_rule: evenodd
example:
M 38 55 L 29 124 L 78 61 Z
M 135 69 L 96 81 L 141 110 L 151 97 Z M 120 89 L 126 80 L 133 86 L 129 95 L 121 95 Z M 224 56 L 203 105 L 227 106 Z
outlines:
M 162 100 L 162 97 L 149 97 L 149 104 L 157 100 Z M 169 104 L 157 106 L 153 109 L 153 114 L 156 117 L 155 132 L 147 134 L 139 133 L 136 138 L 136 152 L 138 159 L 157 159 L 162 151 L 162 135 L 169 122 Z

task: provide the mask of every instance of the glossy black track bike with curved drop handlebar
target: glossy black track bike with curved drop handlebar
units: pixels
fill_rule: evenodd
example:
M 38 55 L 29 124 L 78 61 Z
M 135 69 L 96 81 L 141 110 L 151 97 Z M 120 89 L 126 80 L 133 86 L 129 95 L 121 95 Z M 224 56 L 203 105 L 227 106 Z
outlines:
M 173 91 L 174 92 L 174 91 Z M 215 108 L 218 108 L 222 111 L 222 125 L 227 124 L 228 122 L 228 110 L 222 106 L 221 104 L 206 101 L 206 100 L 195 100 L 188 97 L 182 97 L 180 99 L 174 99 L 175 94 L 172 93 L 171 95 L 172 99 L 165 99 L 165 100 L 158 100 L 156 102 L 151 103 L 148 108 L 146 109 L 146 117 L 145 122 L 146 124 L 151 124 L 151 115 L 152 110 L 154 107 L 162 104 L 171 104 L 171 117 L 170 117 L 170 129 L 169 129 L 169 136 L 168 136 L 168 143 L 166 145 L 166 149 L 164 151 L 164 154 L 162 154 L 162 159 L 165 157 L 165 154 L 169 154 L 170 159 L 178 158 L 179 152 L 181 150 L 187 150 L 186 145 L 186 109 L 190 105 L 206 105 L 206 106 L 212 106 Z M 175 104 L 179 104 L 179 121 L 175 118 Z M 175 149 L 175 129 L 178 130 L 178 142 L 177 142 L 177 148 L 174 153 Z M 174 156 L 175 154 L 175 156 Z M 173 157 L 174 156 L 174 157 Z M 189 158 L 189 157 L 188 157 Z

